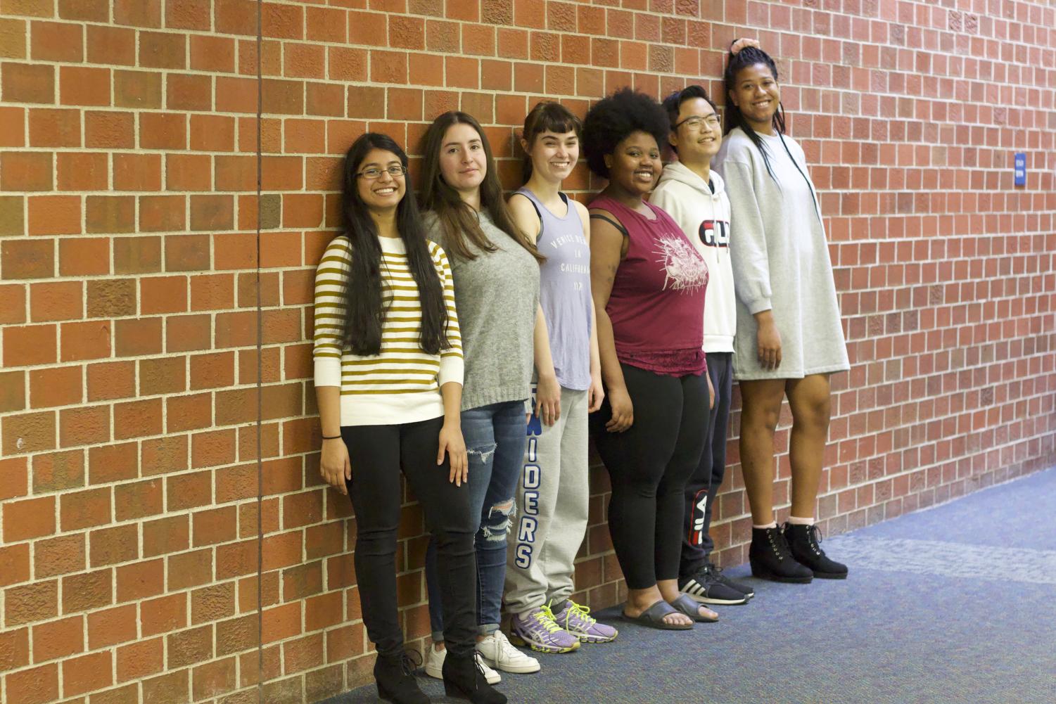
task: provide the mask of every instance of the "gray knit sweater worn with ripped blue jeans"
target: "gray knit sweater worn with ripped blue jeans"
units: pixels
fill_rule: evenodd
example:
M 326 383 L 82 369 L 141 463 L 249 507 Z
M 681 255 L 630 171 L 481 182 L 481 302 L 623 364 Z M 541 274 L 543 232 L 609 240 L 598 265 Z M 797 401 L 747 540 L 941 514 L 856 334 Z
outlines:
M 539 306 L 539 263 L 503 232 L 486 212 L 480 229 L 497 249 L 461 260 L 451 253 L 444 228 L 426 213 L 429 239 L 448 252 L 455 281 L 455 308 L 466 360 L 461 410 L 531 396 L 532 330 Z

